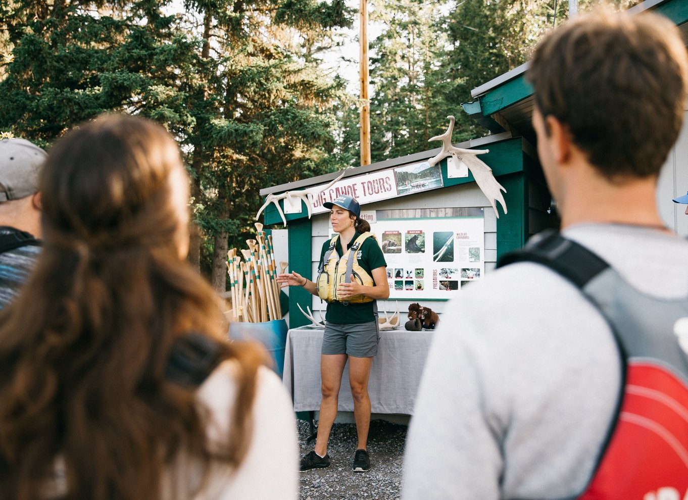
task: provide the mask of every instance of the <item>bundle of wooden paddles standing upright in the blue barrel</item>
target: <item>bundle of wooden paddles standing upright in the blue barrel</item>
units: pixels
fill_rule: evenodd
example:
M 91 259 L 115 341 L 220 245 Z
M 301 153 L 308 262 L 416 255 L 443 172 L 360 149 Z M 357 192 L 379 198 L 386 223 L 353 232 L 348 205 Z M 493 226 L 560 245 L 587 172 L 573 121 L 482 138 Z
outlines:
M 247 239 L 248 250 L 241 250 L 244 262 L 236 248 L 227 252 L 233 321 L 261 323 L 282 317 L 272 236 L 266 238 L 263 224 L 257 222 L 255 226 L 256 239 Z M 287 263 L 279 265 L 284 272 Z

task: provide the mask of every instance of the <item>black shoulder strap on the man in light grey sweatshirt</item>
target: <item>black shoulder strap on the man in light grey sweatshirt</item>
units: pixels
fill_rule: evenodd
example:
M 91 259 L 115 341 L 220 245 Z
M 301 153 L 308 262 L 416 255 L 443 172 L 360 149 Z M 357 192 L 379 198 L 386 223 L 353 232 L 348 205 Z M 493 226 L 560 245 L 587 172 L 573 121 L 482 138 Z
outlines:
M 497 268 L 515 262 L 545 265 L 579 288 L 609 267 L 607 262 L 584 246 L 552 230 L 535 235 L 524 248 L 502 256 Z

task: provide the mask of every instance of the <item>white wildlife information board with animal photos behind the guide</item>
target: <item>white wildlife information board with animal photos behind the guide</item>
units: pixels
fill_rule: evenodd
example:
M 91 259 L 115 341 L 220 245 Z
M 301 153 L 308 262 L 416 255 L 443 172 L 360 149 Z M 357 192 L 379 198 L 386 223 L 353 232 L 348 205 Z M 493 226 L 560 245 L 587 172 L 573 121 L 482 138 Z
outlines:
M 378 219 L 371 231 L 385 254 L 391 299 L 449 299 L 484 274 L 483 217 Z

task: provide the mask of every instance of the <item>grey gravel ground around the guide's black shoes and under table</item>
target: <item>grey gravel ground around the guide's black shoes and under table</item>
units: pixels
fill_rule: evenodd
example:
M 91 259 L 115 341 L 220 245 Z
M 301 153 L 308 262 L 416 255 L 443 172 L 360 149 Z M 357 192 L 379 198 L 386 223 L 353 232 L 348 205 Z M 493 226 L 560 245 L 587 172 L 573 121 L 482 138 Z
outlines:
M 301 456 L 313 449 L 306 443 L 308 422 L 298 420 Z M 392 500 L 401 496 L 402 462 L 407 426 L 385 420 L 370 422 L 370 470 L 354 472 L 356 425 L 334 424 L 327 453 L 330 467 L 301 472 L 299 500 Z

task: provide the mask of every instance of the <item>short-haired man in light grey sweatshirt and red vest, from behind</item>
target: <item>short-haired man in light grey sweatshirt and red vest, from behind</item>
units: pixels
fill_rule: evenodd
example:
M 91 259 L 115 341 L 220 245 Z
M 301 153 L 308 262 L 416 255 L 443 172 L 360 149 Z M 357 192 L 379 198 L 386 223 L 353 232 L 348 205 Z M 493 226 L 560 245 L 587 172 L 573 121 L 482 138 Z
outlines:
M 442 318 L 403 499 L 685 497 L 688 242 L 655 192 L 687 73 L 655 14 L 597 10 L 541 41 L 528 78 L 561 235 L 503 259 Z

